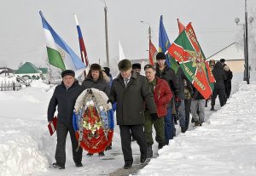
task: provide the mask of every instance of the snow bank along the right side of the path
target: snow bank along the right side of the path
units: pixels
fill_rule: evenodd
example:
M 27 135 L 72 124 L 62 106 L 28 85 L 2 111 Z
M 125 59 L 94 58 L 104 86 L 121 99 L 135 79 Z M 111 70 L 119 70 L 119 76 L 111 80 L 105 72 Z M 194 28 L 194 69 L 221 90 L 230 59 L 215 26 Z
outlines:
M 139 175 L 256 175 L 256 82 L 239 86 L 209 122 L 181 133 Z

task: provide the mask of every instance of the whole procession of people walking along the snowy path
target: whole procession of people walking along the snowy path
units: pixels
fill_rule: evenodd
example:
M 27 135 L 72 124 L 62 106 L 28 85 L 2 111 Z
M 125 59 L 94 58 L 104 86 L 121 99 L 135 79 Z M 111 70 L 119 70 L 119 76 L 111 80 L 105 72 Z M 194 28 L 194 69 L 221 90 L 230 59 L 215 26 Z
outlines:
M 222 59 L 209 65 L 215 77 L 214 90 L 211 97 L 211 111 L 215 111 L 215 99 L 219 98 L 223 106 L 230 97 L 232 71 Z M 62 71 L 61 85 L 49 101 L 48 122 L 52 122 L 58 107 L 57 145 L 53 167 L 64 169 L 66 163 L 66 139 L 70 133 L 73 161 L 76 167 L 82 167 L 82 152 L 73 129 L 73 107 L 79 94 L 87 88 L 97 88 L 108 95 L 108 103 L 116 111 L 116 121 L 119 125 L 121 148 L 124 155 L 124 169 L 129 169 L 133 163 L 131 141 L 136 140 L 140 147 L 140 162 L 153 156 L 152 145 L 155 141 L 158 149 L 169 145 L 170 139 L 176 136 L 175 124 L 179 122 L 181 133 L 189 128 L 189 116 L 195 127 L 205 121 L 205 107 L 209 99 L 204 99 L 201 93 L 189 82 L 182 68 L 178 65 L 177 72 L 166 65 L 166 55 L 162 52 L 156 55 L 155 65 L 145 65 L 145 76 L 141 75 L 142 66 L 131 64 L 131 60 L 120 60 L 119 75 L 113 79 L 110 69 L 98 64 L 90 65 L 90 71 L 79 85 L 75 73 L 71 70 Z M 76 150 L 79 147 L 79 150 Z M 111 150 L 112 146 L 106 146 Z M 88 153 L 87 156 L 92 156 Z M 100 152 L 99 156 L 104 156 Z

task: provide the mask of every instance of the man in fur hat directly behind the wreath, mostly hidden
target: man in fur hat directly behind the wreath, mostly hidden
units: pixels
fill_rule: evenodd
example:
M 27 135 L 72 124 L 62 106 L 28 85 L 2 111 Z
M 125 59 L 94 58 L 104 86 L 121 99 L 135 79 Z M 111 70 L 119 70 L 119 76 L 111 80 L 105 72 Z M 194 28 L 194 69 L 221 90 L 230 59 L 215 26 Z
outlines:
M 110 95 L 110 88 L 108 82 L 103 78 L 102 67 L 98 64 L 90 65 L 90 71 L 88 72 L 87 77 L 85 77 L 84 82 L 82 83 L 82 88 L 97 88 L 103 91 L 108 96 Z M 88 153 L 87 156 L 92 156 L 93 154 Z M 105 156 L 104 151 L 99 153 L 99 156 Z

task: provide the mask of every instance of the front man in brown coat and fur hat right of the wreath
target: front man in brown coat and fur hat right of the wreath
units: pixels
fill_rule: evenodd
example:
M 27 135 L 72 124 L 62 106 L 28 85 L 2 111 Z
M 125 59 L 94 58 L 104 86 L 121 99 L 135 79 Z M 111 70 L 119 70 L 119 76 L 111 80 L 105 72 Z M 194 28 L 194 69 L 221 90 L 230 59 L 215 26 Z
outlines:
M 154 96 L 148 87 L 146 77 L 131 70 L 130 60 L 121 60 L 118 66 L 120 74 L 113 79 L 109 101 L 117 103 L 116 117 L 125 159 L 124 168 L 129 169 L 133 162 L 131 134 L 140 146 L 141 162 L 147 159 L 147 141 L 143 132 L 145 102 L 149 114 L 154 118 L 157 118 L 157 114 Z

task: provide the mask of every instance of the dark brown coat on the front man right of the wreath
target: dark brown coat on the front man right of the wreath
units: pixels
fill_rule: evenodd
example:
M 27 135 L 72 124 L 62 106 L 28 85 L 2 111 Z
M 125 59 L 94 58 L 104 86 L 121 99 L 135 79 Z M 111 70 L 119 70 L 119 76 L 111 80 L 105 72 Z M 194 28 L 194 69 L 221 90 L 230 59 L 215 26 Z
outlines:
M 149 113 L 156 113 L 154 96 L 148 86 L 146 77 L 131 72 L 131 79 L 125 88 L 123 77 L 119 75 L 113 80 L 110 99 L 117 102 L 116 117 L 118 125 L 144 124 L 145 102 Z

